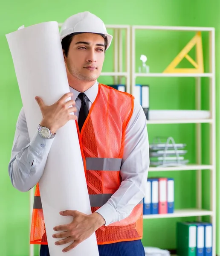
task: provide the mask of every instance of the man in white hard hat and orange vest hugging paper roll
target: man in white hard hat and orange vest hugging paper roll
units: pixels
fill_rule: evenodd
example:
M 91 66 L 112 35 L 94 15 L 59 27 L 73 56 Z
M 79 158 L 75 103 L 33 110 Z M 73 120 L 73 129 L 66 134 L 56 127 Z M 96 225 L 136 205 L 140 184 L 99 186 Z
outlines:
M 149 167 L 146 118 L 133 96 L 97 82 L 111 40 L 102 20 L 90 12 L 78 13 L 64 22 L 61 41 L 70 93 L 51 106 L 36 96 L 43 118 L 31 141 L 24 111 L 20 111 L 9 175 L 20 191 L 37 184 L 35 198 L 40 198 L 38 181 L 55 133 L 70 119 L 78 119 L 93 213 L 61 212 L 72 215 L 73 220 L 54 228 L 60 231 L 53 235 L 60 239 L 55 244 L 72 242 L 63 250 L 67 252 L 96 231 L 100 256 L 144 256 L 140 239 Z M 69 96 L 72 99 L 66 102 Z M 34 204 L 31 243 L 41 244 L 40 256 L 49 256 L 39 205 Z

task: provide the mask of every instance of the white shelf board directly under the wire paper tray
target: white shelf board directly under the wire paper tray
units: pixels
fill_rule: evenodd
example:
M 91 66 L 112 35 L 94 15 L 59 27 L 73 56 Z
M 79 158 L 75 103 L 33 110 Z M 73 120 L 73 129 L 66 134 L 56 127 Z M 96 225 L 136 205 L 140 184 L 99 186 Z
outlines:
M 149 172 L 170 172 L 170 171 L 193 171 L 193 170 L 212 170 L 211 165 L 186 165 L 186 166 L 175 166 L 175 167 L 150 167 Z

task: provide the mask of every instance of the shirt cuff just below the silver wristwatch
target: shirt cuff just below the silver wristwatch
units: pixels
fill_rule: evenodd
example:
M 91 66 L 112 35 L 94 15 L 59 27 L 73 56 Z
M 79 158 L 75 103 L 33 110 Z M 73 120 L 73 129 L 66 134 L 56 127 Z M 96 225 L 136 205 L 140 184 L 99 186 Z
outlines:
M 40 154 L 43 149 L 49 153 L 53 140 L 54 138 L 53 139 L 42 138 L 41 135 L 38 133 L 38 131 L 36 131 L 34 137 L 30 142 L 30 146 L 33 149 L 33 151 L 35 151 L 37 154 Z

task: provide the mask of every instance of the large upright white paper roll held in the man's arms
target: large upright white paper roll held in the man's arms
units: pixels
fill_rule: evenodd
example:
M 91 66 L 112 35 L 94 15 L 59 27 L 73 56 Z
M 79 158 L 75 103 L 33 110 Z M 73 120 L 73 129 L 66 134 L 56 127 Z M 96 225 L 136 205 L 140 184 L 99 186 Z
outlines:
M 6 35 L 6 38 L 32 139 L 42 119 L 35 96 L 51 105 L 69 92 L 58 23 L 29 26 Z M 61 216 L 59 212 L 69 209 L 91 213 L 74 120 L 57 131 L 39 186 L 50 255 L 64 255 L 62 249 L 69 244 L 54 244 L 53 227 L 70 223 L 72 217 Z M 65 255 L 98 256 L 95 233 Z

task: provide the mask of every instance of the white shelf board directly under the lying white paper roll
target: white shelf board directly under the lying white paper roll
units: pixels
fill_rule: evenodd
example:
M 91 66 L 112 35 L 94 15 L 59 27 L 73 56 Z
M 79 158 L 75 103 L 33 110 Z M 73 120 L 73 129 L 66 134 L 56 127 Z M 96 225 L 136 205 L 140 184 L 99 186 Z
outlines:
M 199 124 L 211 123 L 212 119 L 171 119 L 171 120 L 147 120 L 147 125 L 156 124 Z

